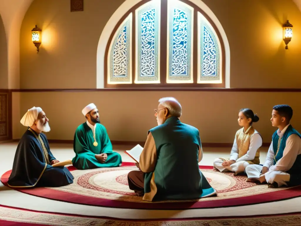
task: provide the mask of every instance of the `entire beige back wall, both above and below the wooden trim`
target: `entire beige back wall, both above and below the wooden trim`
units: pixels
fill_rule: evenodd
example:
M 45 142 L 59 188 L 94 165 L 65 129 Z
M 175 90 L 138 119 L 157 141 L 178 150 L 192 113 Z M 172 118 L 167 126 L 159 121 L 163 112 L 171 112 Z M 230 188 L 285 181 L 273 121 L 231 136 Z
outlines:
M 35 0 L 20 32 L 20 87 L 23 89 L 96 88 L 96 52 L 101 31 L 123 0 L 85 1 L 83 12 L 70 12 L 70 2 Z M 203 0 L 215 13 L 228 37 L 231 52 L 231 88 L 301 87 L 301 13 L 290 0 Z M 284 49 L 281 24 L 294 26 L 289 50 Z M 31 42 L 31 29 L 42 28 L 39 54 Z M 81 109 L 95 102 L 111 140 L 143 141 L 156 126 L 153 109 L 162 96 L 175 96 L 183 106 L 182 121 L 200 130 L 202 142 L 231 143 L 239 129 L 240 108 L 252 108 L 254 124 L 269 142 L 272 106 L 290 104 L 293 125 L 301 130 L 301 93 L 253 92 L 42 92 L 20 93 L 20 117 L 41 106 L 50 119 L 50 139 L 73 139 L 85 121 Z M 235 101 L 235 102 L 234 102 Z M 20 118 L 14 118 L 14 131 Z M 19 127 L 17 128 L 17 125 Z M 17 136 L 17 133 L 14 133 Z M 17 138 L 17 137 L 14 137 Z

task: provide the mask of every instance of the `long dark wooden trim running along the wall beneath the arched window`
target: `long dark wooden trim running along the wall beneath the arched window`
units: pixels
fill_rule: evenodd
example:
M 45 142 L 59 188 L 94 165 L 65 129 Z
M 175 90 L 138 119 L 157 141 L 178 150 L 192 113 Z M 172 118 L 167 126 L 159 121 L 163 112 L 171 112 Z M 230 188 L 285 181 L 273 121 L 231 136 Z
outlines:
M 184 85 L 184 84 L 183 84 Z M 104 89 L 0 89 L 0 92 L 12 93 L 42 93 L 42 92 L 107 92 L 107 91 L 199 91 L 199 92 L 301 92 L 300 88 L 104 88 Z

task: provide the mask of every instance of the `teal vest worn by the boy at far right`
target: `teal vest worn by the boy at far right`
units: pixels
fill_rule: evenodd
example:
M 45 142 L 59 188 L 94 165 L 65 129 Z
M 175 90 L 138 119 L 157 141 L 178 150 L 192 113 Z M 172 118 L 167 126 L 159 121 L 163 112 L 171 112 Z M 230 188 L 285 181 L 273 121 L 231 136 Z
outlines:
M 282 138 L 281 138 L 278 153 L 277 153 L 277 150 L 278 150 L 279 136 L 278 136 L 277 130 L 273 134 L 272 141 L 273 141 L 273 149 L 274 149 L 274 156 L 275 156 L 275 158 L 274 158 L 274 165 L 276 164 L 276 162 L 279 161 L 279 159 L 282 158 L 283 151 L 284 151 L 284 148 L 286 146 L 286 140 L 292 134 L 297 134 L 301 138 L 301 134 L 297 130 L 295 130 L 291 125 L 289 125 L 287 127 L 287 129 L 285 130 Z M 276 153 L 277 153 L 277 155 L 276 155 Z M 290 168 L 289 171 L 290 172 L 295 172 L 295 171 L 299 171 L 299 170 L 301 170 L 301 155 L 297 155 L 296 161 L 293 164 L 292 168 Z M 300 171 L 298 173 L 300 173 Z

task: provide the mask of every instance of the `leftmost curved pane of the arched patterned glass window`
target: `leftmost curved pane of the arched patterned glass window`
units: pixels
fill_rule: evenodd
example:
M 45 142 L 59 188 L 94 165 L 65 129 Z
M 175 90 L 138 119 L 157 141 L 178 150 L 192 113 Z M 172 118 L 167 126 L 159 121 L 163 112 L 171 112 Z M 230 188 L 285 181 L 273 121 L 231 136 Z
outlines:
M 110 51 L 110 77 L 108 83 L 132 83 L 131 73 L 132 14 L 118 28 Z

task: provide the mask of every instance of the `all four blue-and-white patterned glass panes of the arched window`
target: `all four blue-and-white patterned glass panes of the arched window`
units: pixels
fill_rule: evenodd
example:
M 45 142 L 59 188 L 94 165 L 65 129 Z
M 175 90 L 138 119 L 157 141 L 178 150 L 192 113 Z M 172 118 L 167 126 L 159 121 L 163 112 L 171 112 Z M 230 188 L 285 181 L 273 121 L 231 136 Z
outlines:
M 167 12 L 161 12 L 161 1 L 151 0 L 135 10 L 135 43 L 132 43 L 132 13 L 115 32 L 107 57 L 107 83 L 132 83 L 132 59 L 135 59 L 135 83 L 160 83 L 160 13 L 167 13 L 166 82 L 193 83 L 194 72 L 197 83 L 222 83 L 222 52 L 211 24 L 200 12 L 196 12 L 194 21 L 197 9 L 180 0 L 167 0 Z M 198 38 L 197 71 L 192 70 L 194 22 Z

